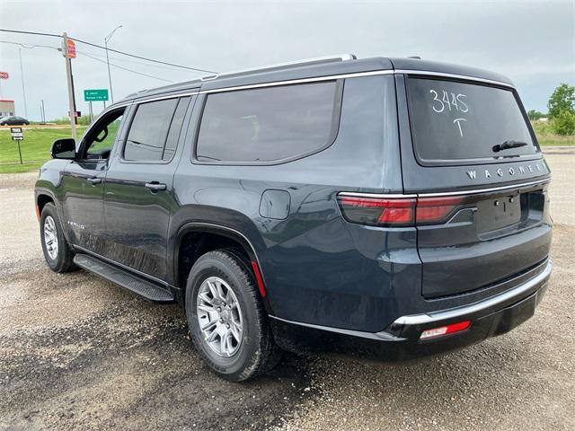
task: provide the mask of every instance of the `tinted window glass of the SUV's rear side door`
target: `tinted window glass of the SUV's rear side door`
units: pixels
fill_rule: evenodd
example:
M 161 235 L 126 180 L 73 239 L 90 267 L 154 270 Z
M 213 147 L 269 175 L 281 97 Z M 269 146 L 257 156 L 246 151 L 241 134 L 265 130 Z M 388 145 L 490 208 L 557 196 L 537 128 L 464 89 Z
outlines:
M 172 160 L 189 101 L 189 97 L 184 97 L 140 104 L 128 132 L 124 159 Z

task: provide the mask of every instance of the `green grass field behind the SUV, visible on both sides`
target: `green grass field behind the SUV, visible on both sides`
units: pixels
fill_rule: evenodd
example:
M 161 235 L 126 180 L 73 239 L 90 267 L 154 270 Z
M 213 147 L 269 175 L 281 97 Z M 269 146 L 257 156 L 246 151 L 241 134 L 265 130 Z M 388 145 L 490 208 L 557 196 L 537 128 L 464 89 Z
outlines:
M 534 121 L 533 127 L 541 145 L 575 145 L 575 136 L 554 135 L 548 123 Z M 78 136 L 82 135 L 84 128 L 82 126 L 77 128 Z M 0 173 L 28 172 L 38 169 L 42 163 L 49 160 L 50 145 L 59 137 L 71 137 L 70 128 L 24 130 L 24 140 L 20 142 L 24 164 L 20 164 L 18 144 L 10 137 L 10 129 L 1 129 Z

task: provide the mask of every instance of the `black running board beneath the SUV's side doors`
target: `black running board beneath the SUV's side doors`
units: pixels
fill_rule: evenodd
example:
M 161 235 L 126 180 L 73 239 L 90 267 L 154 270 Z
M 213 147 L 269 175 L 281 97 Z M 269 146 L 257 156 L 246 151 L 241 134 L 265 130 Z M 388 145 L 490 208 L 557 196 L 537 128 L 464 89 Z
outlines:
M 172 293 L 161 286 L 155 285 L 142 277 L 132 275 L 128 271 L 117 268 L 100 259 L 93 258 L 87 254 L 76 254 L 74 263 L 80 268 L 106 278 L 116 285 L 126 287 L 128 290 L 142 295 L 155 303 L 173 302 Z

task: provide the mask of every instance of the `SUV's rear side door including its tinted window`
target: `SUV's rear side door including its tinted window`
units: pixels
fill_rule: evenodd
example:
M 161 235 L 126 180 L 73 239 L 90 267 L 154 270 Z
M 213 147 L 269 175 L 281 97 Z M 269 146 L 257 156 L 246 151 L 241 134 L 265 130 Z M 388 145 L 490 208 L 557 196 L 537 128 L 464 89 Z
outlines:
M 166 275 L 167 232 L 177 207 L 173 174 L 190 96 L 141 102 L 106 173 L 105 256 L 146 275 Z

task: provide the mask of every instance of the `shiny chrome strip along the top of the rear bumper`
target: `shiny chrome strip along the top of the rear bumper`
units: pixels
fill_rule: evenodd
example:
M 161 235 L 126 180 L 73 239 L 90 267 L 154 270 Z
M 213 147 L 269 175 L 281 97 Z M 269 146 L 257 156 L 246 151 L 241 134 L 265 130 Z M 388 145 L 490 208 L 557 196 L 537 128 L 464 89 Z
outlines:
M 433 323 L 435 321 L 447 321 L 449 319 L 456 319 L 458 317 L 463 317 L 466 315 L 473 314 L 475 312 L 482 312 L 490 309 L 500 303 L 506 303 L 517 296 L 526 294 L 535 286 L 544 285 L 549 276 L 551 275 L 551 269 L 553 268 L 551 261 L 547 262 L 543 272 L 537 274 L 535 277 L 527 280 L 522 285 L 514 287 L 507 292 L 500 295 L 494 295 L 490 298 L 479 301 L 477 303 L 472 303 L 471 305 L 464 305 L 463 307 L 452 308 L 449 310 L 441 310 L 438 312 L 426 312 L 422 314 L 411 314 L 409 316 L 402 316 L 394 321 L 394 325 L 425 325 L 428 323 Z

